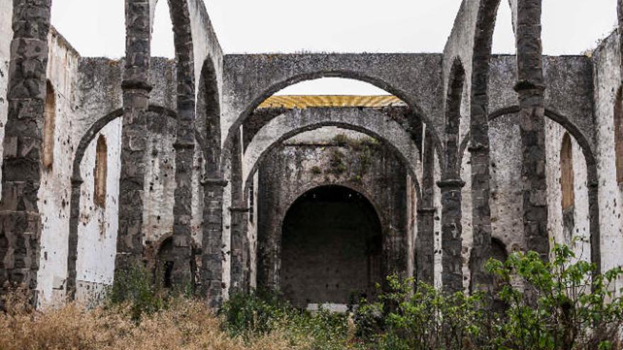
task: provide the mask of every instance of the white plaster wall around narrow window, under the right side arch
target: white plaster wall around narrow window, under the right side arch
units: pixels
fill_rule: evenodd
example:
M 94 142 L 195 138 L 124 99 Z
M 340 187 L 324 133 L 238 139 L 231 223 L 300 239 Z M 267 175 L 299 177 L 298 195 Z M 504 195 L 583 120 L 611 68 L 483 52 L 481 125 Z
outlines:
M 588 216 L 588 187 L 586 182 L 586 161 L 578 143 L 571 137 L 573 145 L 573 211 L 574 228 L 571 237 L 565 237 L 562 214 L 562 189 L 560 151 L 566 130 L 560 124 L 545 120 L 545 173 L 547 176 L 547 214 L 549 238 L 555 243 L 568 245 L 577 259 L 590 262 L 590 229 Z M 575 242 L 574 242 L 575 241 Z

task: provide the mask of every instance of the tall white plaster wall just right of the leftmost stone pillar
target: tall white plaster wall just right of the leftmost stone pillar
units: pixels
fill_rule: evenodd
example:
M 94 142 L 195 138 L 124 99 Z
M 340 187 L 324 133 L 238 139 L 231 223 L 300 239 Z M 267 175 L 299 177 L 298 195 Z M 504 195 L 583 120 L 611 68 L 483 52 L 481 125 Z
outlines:
M 41 251 L 37 274 L 38 306 L 61 305 L 67 278 L 69 237 L 70 177 L 74 142 L 72 121 L 75 119 L 74 85 L 78 76 L 79 56 L 55 30 L 50 30 L 47 78 L 55 88 L 56 126 L 54 164 L 42 170 L 39 189 L 41 213 Z

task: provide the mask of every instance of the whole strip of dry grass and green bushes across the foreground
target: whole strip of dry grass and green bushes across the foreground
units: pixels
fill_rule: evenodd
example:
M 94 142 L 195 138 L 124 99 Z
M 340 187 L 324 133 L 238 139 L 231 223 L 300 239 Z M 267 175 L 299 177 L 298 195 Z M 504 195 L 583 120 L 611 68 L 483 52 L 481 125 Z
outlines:
M 556 245 L 551 262 L 517 252 L 487 269 L 500 285 L 495 295 L 447 295 L 389 276 L 377 301 L 348 315 L 297 310 L 260 292 L 232 296 L 215 315 L 191 296 L 162 297 L 135 270 L 95 310 L 41 313 L 12 294 L 0 313 L 0 349 L 621 349 L 623 299 L 612 288 L 620 268 L 595 275 Z

